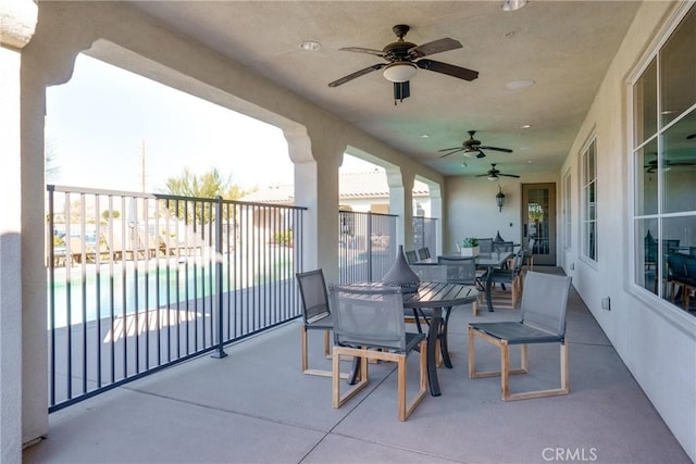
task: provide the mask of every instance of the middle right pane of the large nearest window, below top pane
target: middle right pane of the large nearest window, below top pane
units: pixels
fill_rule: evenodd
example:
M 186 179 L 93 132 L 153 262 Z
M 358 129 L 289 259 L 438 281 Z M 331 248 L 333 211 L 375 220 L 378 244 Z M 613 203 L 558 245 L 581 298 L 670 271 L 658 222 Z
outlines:
M 663 140 L 663 212 L 696 211 L 696 111 L 664 131 Z

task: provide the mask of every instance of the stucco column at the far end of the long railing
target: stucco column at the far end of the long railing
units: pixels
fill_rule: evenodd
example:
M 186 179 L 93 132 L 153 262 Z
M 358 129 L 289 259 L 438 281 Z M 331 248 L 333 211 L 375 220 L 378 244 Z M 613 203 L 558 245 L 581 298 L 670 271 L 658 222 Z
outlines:
M 306 269 L 321 267 L 326 281 L 338 281 L 338 168 L 346 145 L 318 130 L 286 129 L 290 160 L 295 163 L 295 204 L 307 206 L 304 240 Z

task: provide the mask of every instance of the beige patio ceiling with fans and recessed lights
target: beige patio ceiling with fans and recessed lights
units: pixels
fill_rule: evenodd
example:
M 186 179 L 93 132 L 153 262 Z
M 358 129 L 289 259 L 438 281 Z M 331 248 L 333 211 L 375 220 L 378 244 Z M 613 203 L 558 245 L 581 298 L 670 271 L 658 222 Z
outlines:
M 443 175 L 483 174 L 490 163 L 509 174 L 559 168 L 641 4 L 531 1 L 505 12 L 501 1 L 135 3 Z M 417 45 L 459 40 L 462 48 L 432 59 L 475 70 L 478 78 L 419 70 L 411 97 L 397 105 L 381 71 L 327 86 L 383 62 L 339 49 L 382 49 L 396 40 L 396 24 L 410 25 L 406 39 Z M 306 40 L 322 48 L 302 51 L 299 43 Z M 506 87 L 520 79 L 535 85 Z M 521 128 L 524 124 L 531 127 Z M 468 130 L 476 130 L 484 146 L 513 153 L 440 158 L 438 150 L 461 146 Z

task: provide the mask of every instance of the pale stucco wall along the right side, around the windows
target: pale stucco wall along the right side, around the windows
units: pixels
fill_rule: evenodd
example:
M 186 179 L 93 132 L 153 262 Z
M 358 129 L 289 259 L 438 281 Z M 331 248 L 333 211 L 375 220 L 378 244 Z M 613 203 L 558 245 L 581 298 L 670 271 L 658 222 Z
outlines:
M 631 240 L 631 73 L 683 2 L 644 2 L 617 53 L 561 173 L 573 183 L 573 285 L 652 404 L 696 460 L 696 317 L 633 286 Z M 598 261 L 580 258 L 579 153 L 597 140 Z M 600 309 L 611 297 L 611 311 Z

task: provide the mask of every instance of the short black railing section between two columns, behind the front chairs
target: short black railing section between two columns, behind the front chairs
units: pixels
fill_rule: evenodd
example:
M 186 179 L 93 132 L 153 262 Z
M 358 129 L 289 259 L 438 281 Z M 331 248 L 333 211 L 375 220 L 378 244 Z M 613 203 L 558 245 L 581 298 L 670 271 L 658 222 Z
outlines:
M 380 280 L 396 256 L 397 216 L 339 211 L 340 284 Z

